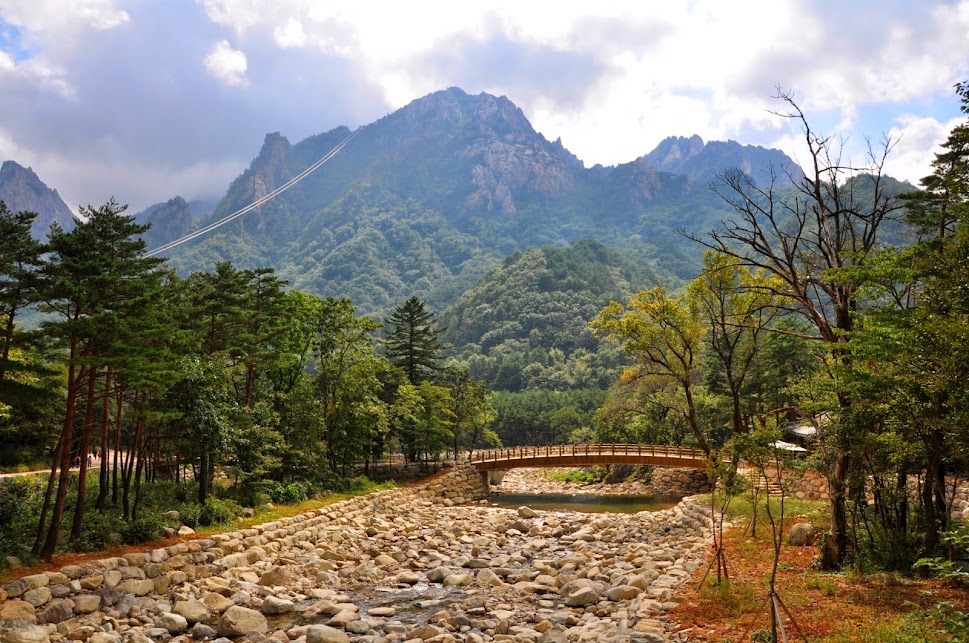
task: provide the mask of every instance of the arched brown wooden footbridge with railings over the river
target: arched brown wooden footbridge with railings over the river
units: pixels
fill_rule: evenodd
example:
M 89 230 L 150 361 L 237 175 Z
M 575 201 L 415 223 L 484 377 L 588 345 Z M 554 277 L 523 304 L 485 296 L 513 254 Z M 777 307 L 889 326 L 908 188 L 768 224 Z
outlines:
M 706 469 L 709 464 L 699 449 L 663 444 L 564 444 L 489 449 L 475 451 L 470 460 L 479 471 L 503 471 L 518 467 L 590 467 L 597 464 L 650 464 Z

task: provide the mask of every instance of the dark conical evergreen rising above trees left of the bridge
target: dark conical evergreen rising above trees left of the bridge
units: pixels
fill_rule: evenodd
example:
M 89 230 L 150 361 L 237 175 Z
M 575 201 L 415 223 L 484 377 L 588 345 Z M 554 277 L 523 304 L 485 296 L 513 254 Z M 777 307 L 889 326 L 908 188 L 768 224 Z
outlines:
M 434 313 L 411 297 L 394 309 L 386 325 L 392 329 L 383 341 L 390 362 L 403 369 L 411 384 L 433 379 L 441 370 L 444 350 L 440 340 L 444 331 Z

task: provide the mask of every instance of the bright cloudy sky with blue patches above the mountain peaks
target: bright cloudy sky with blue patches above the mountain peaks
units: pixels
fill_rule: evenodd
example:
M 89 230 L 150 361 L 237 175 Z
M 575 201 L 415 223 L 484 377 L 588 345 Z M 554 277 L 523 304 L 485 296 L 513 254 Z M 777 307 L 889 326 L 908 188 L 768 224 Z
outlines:
M 451 86 L 507 96 L 587 167 L 693 134 L 804 164 L 779 88 L 843 160 L 889 140 L 917 182 L 963 80 L 969 0 L 0 0 L 0 160 L 72 208 L 219 198 L 269 132 Z

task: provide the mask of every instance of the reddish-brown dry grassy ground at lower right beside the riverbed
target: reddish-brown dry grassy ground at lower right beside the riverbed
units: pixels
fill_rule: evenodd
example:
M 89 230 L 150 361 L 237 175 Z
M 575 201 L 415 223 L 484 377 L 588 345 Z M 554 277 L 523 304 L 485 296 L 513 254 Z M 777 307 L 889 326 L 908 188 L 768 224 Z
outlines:
M 808 516 L 793 518 L 786 524 L 807 520 Z M 737 523 L 740 526 L 728 530 L 724 537 L 731 584 L 716 587 L 716 576 L 712 575 L 713 582 L 707 578 L 704 588 L 697 591 L 706 569 L 703 566 L 681 590 L 683 602 L 670 613 L 680 623 L 681 631 L 689 630 L 690 640 L 749 641 L 753 632 L 770 628 L 770 531 L 758 528 L 754 539 L 744 535 L 743 518 Z M 817 553 L 816 547 L 785 544 L 777 581 L 781 599 L 809 641 L 951 641 L 937 618 L 935 604 L 945 601 L 962 612 L 969 609 L 966 590 L 939 581 L 886 574 L 865 578 L 851 572 L 822 572 L 813 564 Z M 802 640 L 789 621 L 786 625 L 791 640 Z

